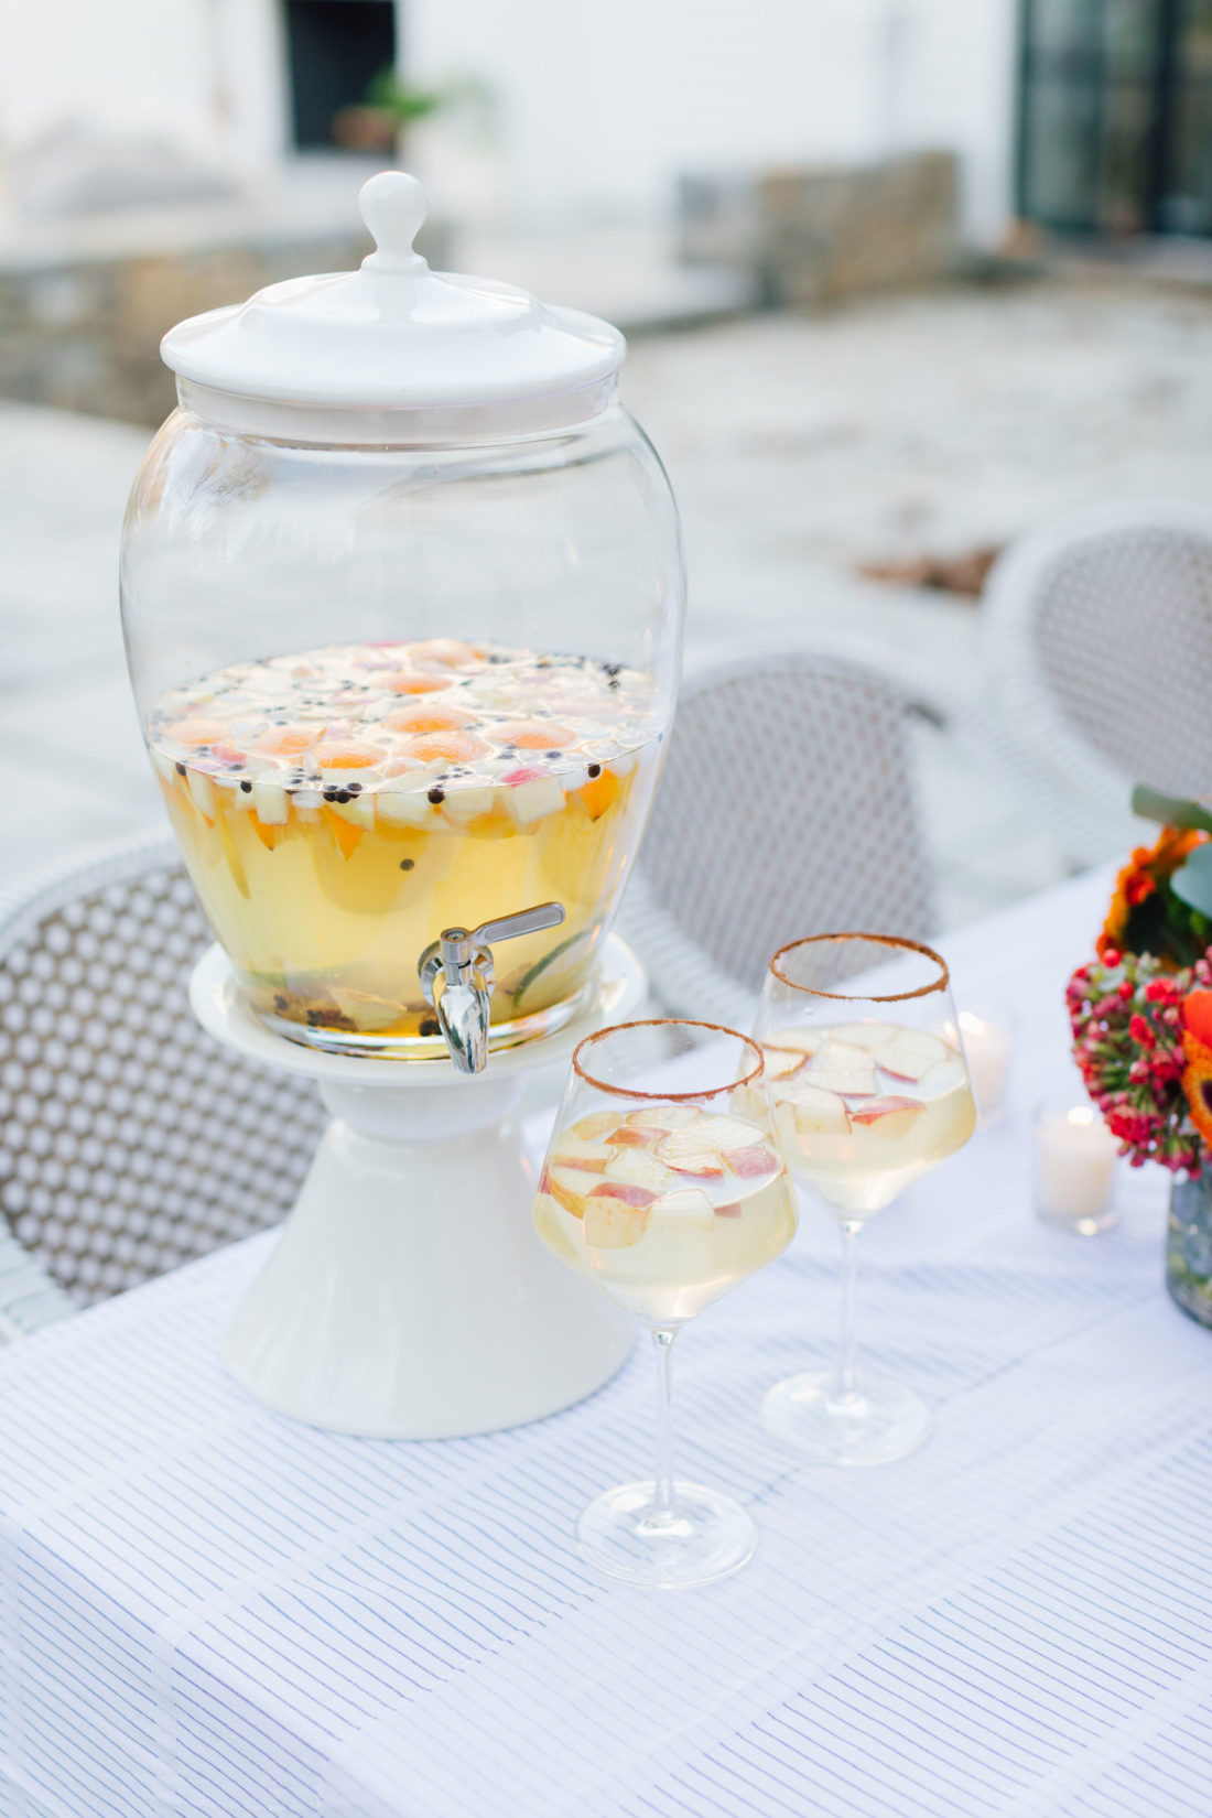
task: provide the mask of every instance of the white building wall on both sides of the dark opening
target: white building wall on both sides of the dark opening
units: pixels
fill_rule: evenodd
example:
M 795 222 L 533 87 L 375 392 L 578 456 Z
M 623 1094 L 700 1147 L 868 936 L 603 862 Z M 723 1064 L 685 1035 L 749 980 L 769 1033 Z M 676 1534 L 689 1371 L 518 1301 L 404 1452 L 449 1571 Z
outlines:
M 494 91 L 496 145 L 460 182 L 474 187 L 478 158 L 522 225 L 656 220 L 680 171 L 916 145 L 963 155 L 972 236 L 1008 218 L 1016 0 L 400 5 L 416 80 Z M 254 169 L 287 151 L 282 36 L 280 0 L 0 0 L 0 155 L 76 120 Z

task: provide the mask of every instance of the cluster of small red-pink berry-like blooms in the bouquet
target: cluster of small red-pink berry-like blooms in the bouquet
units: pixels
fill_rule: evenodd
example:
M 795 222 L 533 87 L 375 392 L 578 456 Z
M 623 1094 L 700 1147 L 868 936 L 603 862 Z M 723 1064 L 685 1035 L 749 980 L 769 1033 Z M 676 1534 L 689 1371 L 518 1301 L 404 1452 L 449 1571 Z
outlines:
M 1203 1167 L 1203 1138 L 1188 1118 L 1181 1080 L 1183 998 L 1207 985 L 1207 958 L 1176 973 L 1148 953 L 1114 947 L 1068 980 L 1074 1058 L 1132 1167 L 1161 1162 L 1188 1174 Z

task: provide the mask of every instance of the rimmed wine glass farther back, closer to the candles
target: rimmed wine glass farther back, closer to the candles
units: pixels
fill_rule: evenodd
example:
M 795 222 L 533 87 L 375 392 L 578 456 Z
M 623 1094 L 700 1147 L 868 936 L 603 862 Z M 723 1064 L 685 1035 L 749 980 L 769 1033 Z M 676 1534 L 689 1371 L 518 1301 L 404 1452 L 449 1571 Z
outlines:
M 867 1218 L 976 1127 L 947 965 L 887 934 L 814 934 L 770 960 L 756 1036 L 783 1154 L 841 1225 L 841 1344 L 832 1371 L 780 1382 L 767 1433 L 814 1463 L 878 1465 L 927 1436 L 912 1389 L 856 1369 L 856 1244 Z

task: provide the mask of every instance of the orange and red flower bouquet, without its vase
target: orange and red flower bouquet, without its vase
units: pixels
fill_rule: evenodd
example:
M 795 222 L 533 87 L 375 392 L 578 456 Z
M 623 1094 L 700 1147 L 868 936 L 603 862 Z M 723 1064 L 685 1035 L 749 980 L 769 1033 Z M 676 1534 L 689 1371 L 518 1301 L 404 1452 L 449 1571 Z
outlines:
M 1121 1154 L 1196 1178 L 1212 1154 L 1212 813 L 1152 789 L 1132 807 L 1163 831 L 1068 980 L 1074 1056 Z

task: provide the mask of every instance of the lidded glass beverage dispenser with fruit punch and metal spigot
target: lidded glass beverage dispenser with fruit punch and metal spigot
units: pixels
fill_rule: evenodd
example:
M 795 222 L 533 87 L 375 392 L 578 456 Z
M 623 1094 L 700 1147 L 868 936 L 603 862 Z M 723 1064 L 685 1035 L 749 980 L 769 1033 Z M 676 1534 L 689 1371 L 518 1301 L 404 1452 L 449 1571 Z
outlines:
M 612 327 L 431 271 L 411 176 L 362 211 L 360 271 L 165 336 L 124 625 L 260 1022 L 476 1071 L 592 987 L 672 713 L 678 520 Z

